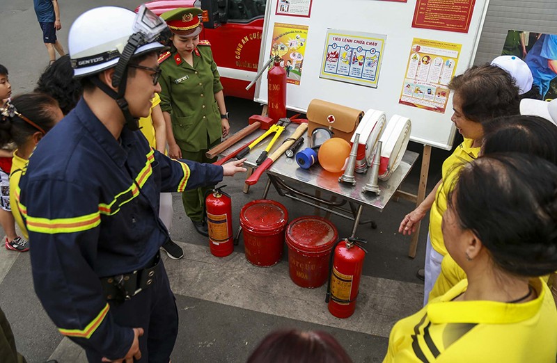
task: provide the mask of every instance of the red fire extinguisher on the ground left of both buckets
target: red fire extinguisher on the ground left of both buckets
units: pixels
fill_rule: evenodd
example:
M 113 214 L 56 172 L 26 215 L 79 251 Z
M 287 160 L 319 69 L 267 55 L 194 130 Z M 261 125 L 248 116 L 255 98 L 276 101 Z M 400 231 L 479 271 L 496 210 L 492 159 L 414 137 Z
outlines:
M 232 200 L 222 188 L 214 188 L 205 197 L 207 210 L 207 227 L 209 229 L 209 246 L 212 255 L 225 257 L 234 250 L 232 233 Z

